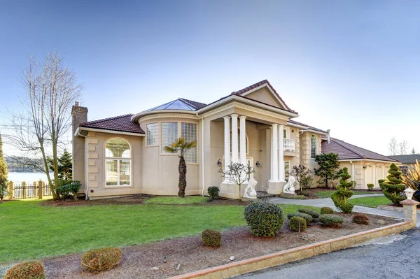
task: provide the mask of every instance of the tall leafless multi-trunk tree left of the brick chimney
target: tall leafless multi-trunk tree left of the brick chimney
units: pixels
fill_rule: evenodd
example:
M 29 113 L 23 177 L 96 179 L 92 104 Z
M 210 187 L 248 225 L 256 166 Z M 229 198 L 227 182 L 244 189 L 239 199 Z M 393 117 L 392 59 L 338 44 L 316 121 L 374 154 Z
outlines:
M 71 125 L 71 106 L 80 98 L 83 86 L 57 52 L 45 55 L 43 63 L 30 57 L 21 82 L 25 90 L 20 96 L 22 110 L 11 113 L 5 137 L 25 155 L 41 156 L 43 166 L 36 168 L 45 172 L 53 198 L 59 199 L 57 150 L 63 145 Z M 53 178 L 48 172 L 48 157 L 55 170 Z

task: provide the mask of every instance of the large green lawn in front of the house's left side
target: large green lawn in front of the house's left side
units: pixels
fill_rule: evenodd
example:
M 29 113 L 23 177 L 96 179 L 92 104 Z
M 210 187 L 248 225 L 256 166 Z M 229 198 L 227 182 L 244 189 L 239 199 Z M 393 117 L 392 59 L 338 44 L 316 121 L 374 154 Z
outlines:
M 245 206 L 139 204 L 52 207 L 41 206 L 40 203 L 0 203 L 0 262 L 150 243 L 197 235 L 208 228 L 223 230 L 246 225 Z M 285 213 L 289 213 L 302 206 L 282 207 Z

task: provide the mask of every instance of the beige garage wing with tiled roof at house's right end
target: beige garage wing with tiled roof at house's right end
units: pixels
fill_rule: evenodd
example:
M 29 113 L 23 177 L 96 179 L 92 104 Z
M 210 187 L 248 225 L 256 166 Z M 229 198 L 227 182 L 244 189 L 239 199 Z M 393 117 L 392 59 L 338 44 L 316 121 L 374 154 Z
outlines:
M 323 153 L 338 154 L 339 166 L 349 169 L 351 180 L 356 181 L 356 189 L 367 189 L 367 184 L 379 188 L 379 179 L 386 179 L 389 165 L 398 163 L 397 159 L 380 155 L 376 152 L 359 148 L 337 138 L 328 138 L 322 142 Z

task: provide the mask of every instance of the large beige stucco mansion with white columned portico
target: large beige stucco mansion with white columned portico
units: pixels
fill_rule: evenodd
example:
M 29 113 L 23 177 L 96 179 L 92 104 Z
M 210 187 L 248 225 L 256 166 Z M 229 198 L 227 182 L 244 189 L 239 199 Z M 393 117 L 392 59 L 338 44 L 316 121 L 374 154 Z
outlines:
M 209 104 L 179 98 L 135 115 L 87 122 L 87 108 L 76 103 L 72 115 L 73 178 L 92 199 L 176 195 L 179 158 L 164 147 L 179 136 L 197 141 L 185 155 L 187 195 L 207 194 L 207 187 L 216 185 L 221 196 L 239 198 L 237 185 L 223 181 L 218 173 L 218 164 L 226 168 L 230 162 L 250 164 L 256 171 L 256 189 L 280 194 L 291 166 L 317 166 L 314 157 L 328 136 L 327 131 L 294 121 L 299 115 L 267 80 Z M 364 177 L 370 179 L 370 174 L 362 162 L 379 162 L 360 158 L 343 158 L 342 164 L 351 159 L 358 187 L 365 188 L 370 180 Z M 384 166 L 393 162 L 386 158 L 378 161 Z

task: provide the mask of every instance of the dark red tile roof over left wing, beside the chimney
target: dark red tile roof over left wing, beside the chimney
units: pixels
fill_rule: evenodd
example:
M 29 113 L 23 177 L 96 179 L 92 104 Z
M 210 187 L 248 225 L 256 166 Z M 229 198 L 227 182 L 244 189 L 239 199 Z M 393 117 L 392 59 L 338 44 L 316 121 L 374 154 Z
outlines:
M 141 129 L 140 125 L 138 123 L 132 122 L 131 117 L 132 114 L 126 114 L 101 120 L 88 121 L 79 124 L 79 127 L 144 134 L 144 131 Z

